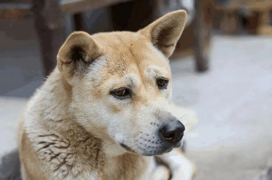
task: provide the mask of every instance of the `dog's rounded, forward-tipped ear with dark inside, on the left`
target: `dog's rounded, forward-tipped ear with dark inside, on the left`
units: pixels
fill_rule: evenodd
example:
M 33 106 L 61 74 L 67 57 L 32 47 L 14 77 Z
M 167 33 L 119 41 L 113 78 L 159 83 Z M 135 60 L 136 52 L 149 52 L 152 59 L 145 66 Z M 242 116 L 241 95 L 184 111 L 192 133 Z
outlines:
M 90 34 L 75 31 L 58 51 L 57 66 L 67 77 L 82 75 L 90 63 L 101 55 L 103 48 Z

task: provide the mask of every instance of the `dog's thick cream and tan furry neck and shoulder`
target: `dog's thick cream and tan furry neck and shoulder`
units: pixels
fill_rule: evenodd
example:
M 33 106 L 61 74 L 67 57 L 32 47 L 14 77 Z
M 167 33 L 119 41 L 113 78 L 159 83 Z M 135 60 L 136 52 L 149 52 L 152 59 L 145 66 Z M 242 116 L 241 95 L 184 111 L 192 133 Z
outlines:
M 58 82 L 56 79 L 54 81 L 55 85 L 46 82 L 36 92 L 20 118 L 18 150 L 21 164 L 26 174 L 33 175 L 30 179 L 45 178 L 49 172 L 54 172 L 49 175 L 53 179 L 88 177 L 90 172 L 99 172 L 103 167 L 101 142 L 69 115 L 59 115 L 65 111 L 61 108 L 65 106 L 65 102 L 56 106 L 54 101 L 50 105 L 43 101 L 50 96 L 56 98 Z M 44 90 L 47 88 L 54 89 L 53 94 L 52 91 Z M 48 109 L 51 112 L 47 112 Z M 28 165 L 24 166 L 25 164 Z

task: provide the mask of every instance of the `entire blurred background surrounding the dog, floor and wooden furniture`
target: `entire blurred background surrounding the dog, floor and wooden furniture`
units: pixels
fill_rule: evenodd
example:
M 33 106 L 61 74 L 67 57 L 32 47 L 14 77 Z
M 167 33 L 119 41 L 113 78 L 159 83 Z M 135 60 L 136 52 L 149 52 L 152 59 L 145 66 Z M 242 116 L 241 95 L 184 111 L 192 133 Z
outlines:
M 71 32 L 137 31 L 178 9 L 188 16 L 170 58 L 173 101 L 199 117 L 187 138 L 196 179 L 268 180 L 272 0 L 0 0 L 0 156 Z

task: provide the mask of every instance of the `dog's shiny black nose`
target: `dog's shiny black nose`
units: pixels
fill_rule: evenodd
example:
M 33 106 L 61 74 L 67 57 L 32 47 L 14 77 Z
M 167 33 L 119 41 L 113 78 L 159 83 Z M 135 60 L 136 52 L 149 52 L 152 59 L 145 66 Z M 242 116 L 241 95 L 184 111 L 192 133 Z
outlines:
M 162 139 L 174 144 L 179 142 L 184 134 L 185 126 L 179 120 L 169 121 L 160 129 Z

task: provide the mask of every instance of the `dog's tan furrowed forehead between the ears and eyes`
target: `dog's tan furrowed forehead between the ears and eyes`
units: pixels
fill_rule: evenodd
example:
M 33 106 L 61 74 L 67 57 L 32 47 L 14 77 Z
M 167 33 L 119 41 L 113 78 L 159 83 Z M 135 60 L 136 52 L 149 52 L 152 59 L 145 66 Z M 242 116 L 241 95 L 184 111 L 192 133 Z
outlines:
M 100 36 L 99 36 L 100 35 Z M 110 73 L 139 72 L 145 76 L 160 73 L 170 76 L 169 60 L 155 48 L 150 40 L 133 32 L 98 34 Z

